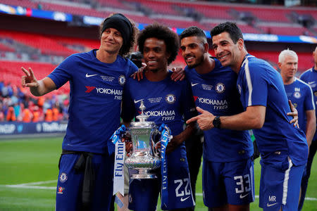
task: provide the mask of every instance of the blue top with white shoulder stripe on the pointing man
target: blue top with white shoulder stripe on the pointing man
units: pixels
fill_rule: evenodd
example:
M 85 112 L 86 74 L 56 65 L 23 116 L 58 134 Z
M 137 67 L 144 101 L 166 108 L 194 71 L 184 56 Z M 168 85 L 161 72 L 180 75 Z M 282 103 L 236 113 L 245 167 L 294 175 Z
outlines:
M 276 151 L 290 156 L 294 165 L 307 160 L 308 146 L 302 129 L 290 124 L 290 112 L 280 73 L 266 61 L 247 55 L 238 74 L 237 89 L 244 109 L 248 106 L 265 106 L 263 127 L 254 129 L 263 162 L 273 161 Z M 281 157 L 282 159 L 282 157 Z

